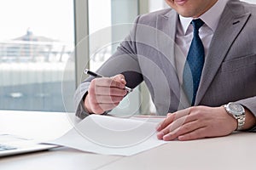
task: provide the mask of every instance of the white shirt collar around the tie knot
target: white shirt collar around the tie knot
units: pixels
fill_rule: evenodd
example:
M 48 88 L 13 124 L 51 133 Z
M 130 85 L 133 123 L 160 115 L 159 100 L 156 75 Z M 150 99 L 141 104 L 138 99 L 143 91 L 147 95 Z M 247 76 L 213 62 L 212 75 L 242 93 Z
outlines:
M 223 13 L 226 3 L 228 3 L 228 1 L 229 0 L 218 0 L 217 3 L 212 6 L 212 8 L 207 10 L 206 13 L 201 14 L 201 16 L 199 17 L 205 22 L 207 26 L 211 28 L 213 32 L 217 29 L 218 20 L 220 19 L 220 16 Z M 179 15 L 179 20 L 183 28 L 183 33 L 185 35 L 193 18 L 183 17 L 182 15 Z

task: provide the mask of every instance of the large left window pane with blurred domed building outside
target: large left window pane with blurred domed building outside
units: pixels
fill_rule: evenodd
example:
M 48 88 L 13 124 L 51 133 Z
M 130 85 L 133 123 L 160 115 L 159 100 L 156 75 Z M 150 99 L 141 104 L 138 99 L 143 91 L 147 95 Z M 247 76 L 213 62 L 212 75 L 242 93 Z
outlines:
M 75 90 L 73 0 L 1 1 L 0 15 L 0 109 L 65 111 L 61 87 L 71 103 Z

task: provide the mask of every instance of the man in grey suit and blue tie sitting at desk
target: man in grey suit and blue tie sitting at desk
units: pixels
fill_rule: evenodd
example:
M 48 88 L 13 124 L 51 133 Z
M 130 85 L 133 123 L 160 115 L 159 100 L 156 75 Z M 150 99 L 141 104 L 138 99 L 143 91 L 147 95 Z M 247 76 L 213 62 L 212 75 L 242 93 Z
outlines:
M 80 84 L 76 115 L 104 114 L 125 97 L 125 86 L 144 81 L 158 114 L 167 115 L 157 127 L 159 139 L 253 131 L 256 6 L 238 0 L 166 3 L 172 9 L 137 17 L 131 33 L 98 70 L 106 77 Z

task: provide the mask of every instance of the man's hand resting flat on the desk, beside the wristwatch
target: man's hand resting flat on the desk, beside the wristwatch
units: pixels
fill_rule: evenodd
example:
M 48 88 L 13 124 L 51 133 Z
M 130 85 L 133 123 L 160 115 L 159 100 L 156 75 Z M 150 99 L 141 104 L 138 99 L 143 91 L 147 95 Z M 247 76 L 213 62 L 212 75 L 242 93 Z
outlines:
M 157 127 L 163 140 L 192 140 L 225 136 L 236 130 L 237 121 L 224 107 L 194 106 L 168 114 Z

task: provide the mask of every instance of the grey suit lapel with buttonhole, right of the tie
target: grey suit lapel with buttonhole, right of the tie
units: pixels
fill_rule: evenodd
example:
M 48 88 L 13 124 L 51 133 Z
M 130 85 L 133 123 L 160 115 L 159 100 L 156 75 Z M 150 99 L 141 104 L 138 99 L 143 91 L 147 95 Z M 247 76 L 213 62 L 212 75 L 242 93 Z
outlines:
M 216 76 L 232 43 L 236 40 L 243 26 L 246 25 L 249 16 L 250 14 L 245 14 L 241 4 L 228 3 L 224 9 L 206 56 L 195 105 L 198 105 L 206 94 L 207 88 L 209 88 L 213 78 Z

